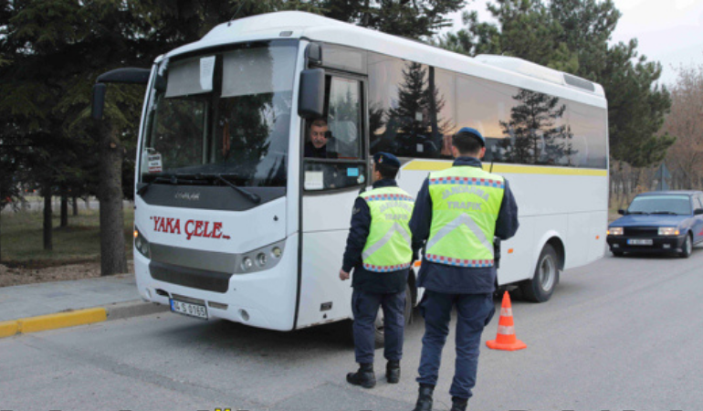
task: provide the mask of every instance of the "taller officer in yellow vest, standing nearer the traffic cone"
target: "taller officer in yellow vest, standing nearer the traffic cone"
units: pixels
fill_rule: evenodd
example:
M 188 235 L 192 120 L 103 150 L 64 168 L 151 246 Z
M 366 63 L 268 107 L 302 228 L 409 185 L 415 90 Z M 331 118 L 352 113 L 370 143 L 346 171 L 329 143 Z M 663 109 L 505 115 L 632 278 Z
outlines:
M 483 171 L 486 140 L 462 128 L 452 138 L 451 168 L 430 173 L 417 195 L 410 228 L 413 249 L 424 248 L 418 287 L 425 287 L 421 312 L 425 336 L 414 411 L 430 411 L 442 349 L 456 306 L 456 364 L 449 394 L 451 411 L 467 408 L 476 385 L 478 345 L 493 317 L 496 284 L 493 238 L 518 230 L 518 206 L 508 181 Z

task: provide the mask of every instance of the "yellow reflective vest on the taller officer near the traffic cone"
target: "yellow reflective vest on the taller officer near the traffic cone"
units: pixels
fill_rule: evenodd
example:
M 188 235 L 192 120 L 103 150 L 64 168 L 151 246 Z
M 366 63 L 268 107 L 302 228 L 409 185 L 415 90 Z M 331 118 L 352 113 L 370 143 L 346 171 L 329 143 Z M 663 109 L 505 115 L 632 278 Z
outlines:
M 478 167 L 431 173 L 432 226 L 425 258 L 456 267 L 492 267 L 493 235 L 504 191 L 503 177 Z

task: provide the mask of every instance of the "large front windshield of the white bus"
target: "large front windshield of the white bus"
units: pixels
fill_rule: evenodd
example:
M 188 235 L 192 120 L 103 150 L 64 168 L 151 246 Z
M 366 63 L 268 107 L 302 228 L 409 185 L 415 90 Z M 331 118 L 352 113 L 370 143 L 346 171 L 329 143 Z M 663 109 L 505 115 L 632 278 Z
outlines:
M 296 54 L 295 42 L 278 41 L 164 60 L 142 183 L 285 186 Z

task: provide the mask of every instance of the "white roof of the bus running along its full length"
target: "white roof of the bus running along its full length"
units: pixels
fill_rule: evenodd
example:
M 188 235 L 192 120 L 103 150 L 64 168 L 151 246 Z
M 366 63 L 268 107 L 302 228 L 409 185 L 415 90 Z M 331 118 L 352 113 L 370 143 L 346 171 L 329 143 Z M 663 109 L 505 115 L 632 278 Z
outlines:
M 296 11 L 249 16 L 223 23 L 215 26 L 199 41 L 176 48 L 166 57 L 202 48 L 280 38 L 306 38 L 357 47 L 593 106 L 606 107 L 601 85 L 521 58 L 491 55 L 470 58 L 404 37 Z

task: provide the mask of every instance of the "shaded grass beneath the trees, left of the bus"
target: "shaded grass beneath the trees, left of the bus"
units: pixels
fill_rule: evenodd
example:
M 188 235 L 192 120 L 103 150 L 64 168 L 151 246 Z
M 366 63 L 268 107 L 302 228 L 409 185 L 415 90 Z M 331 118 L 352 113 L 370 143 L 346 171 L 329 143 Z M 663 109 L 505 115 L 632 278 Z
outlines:
M 124 208 L 124 236 L 127 258 L 131 258 L 131 232 L 134 210 Z M 43 248 L 41 210 L 3 213 L 0 218 L 2 263 L 9 267 L 45 268 L 88 261 L 100 261 L 100 212 L 80 210 L 79 216 L 68 213 L 68 227 L 58 227 L 58 213 L 53 217 L 54 249 Z

